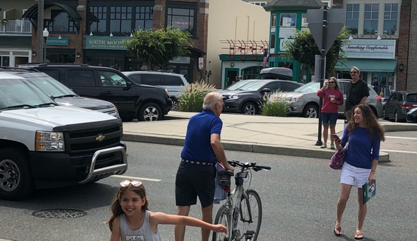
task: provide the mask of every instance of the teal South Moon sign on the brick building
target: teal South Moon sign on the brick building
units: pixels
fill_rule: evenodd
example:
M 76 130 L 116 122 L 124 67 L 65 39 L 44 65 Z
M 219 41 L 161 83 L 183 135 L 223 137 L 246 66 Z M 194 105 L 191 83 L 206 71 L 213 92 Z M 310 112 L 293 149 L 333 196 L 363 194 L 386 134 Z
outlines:
M 125 41 L 129 37 L 86 36 L 86 49 L 126 50 Z

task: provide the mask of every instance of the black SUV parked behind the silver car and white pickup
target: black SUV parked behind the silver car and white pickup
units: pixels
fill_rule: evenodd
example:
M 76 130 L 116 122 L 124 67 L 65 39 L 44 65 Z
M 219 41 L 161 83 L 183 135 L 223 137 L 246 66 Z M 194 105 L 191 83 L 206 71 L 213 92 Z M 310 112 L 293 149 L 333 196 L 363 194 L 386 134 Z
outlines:
M 138 85 L 116 69 L 84 64 L 29 63 L 81 95 L 113 103 L 123 121 L 156 121 L 171 110 L 168 91 L 150 85 Z

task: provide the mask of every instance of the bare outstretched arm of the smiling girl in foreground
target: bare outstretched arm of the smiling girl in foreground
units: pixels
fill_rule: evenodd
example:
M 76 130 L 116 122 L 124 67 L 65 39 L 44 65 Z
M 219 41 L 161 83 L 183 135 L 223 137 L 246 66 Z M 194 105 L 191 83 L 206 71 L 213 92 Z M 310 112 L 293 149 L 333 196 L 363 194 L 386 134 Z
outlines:
M 223 226 L 221 224 L 209 224 L 207 222 L 201 221 L 200 219 L 188 216 L 168 215 L 165 213 L 150 213 L 149 221 L 151 226 L 155 225 L 155 230 L 158 224 L 179 224 L 206 228 L 216 233 L 228 233 L 228 229 L 226 228 L 226 226 Z

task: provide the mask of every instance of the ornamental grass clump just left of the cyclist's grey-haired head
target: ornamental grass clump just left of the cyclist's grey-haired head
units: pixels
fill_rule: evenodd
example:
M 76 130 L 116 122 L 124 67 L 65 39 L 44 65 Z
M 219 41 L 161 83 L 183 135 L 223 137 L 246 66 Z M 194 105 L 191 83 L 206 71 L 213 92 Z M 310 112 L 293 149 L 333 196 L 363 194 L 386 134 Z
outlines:
M 214 85 L 203 80 L 191 83 L 178 94 L 178 110 L 184 112 L 201 112 L 206 94 L 215 90 Z

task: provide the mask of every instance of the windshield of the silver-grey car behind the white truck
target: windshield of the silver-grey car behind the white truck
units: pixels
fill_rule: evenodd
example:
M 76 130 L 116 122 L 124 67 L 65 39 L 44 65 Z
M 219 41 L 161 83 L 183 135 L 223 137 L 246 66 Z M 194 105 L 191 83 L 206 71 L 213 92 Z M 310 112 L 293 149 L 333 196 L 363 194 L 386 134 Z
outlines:
M 49 97 L 68 97 L 77 96 L 72 90 L 65 85 L 59 83 L 50 76 L 36 76 L 27 78 L 34 85 L 38 86 L 40 90 L 45 92 Z

